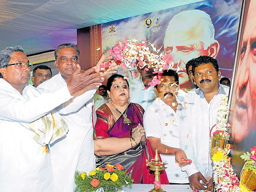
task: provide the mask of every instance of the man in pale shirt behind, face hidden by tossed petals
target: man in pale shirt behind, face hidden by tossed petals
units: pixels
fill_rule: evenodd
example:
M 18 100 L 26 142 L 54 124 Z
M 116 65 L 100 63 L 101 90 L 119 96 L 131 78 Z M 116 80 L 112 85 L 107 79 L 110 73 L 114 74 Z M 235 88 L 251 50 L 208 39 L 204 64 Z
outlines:
M 156 99 L 156 93 L 154 88 L 149 86 L 148 83 L 152 81 L 153 70 L 148 71 L 140 69 L 137 67 L 138 72 L 140 73 L 139 77 L 129 81 L 129 90 L 130 90 L 130 101 L 133 103 L 138 103 L 146 110 L 147 106 L 150 105 Z

